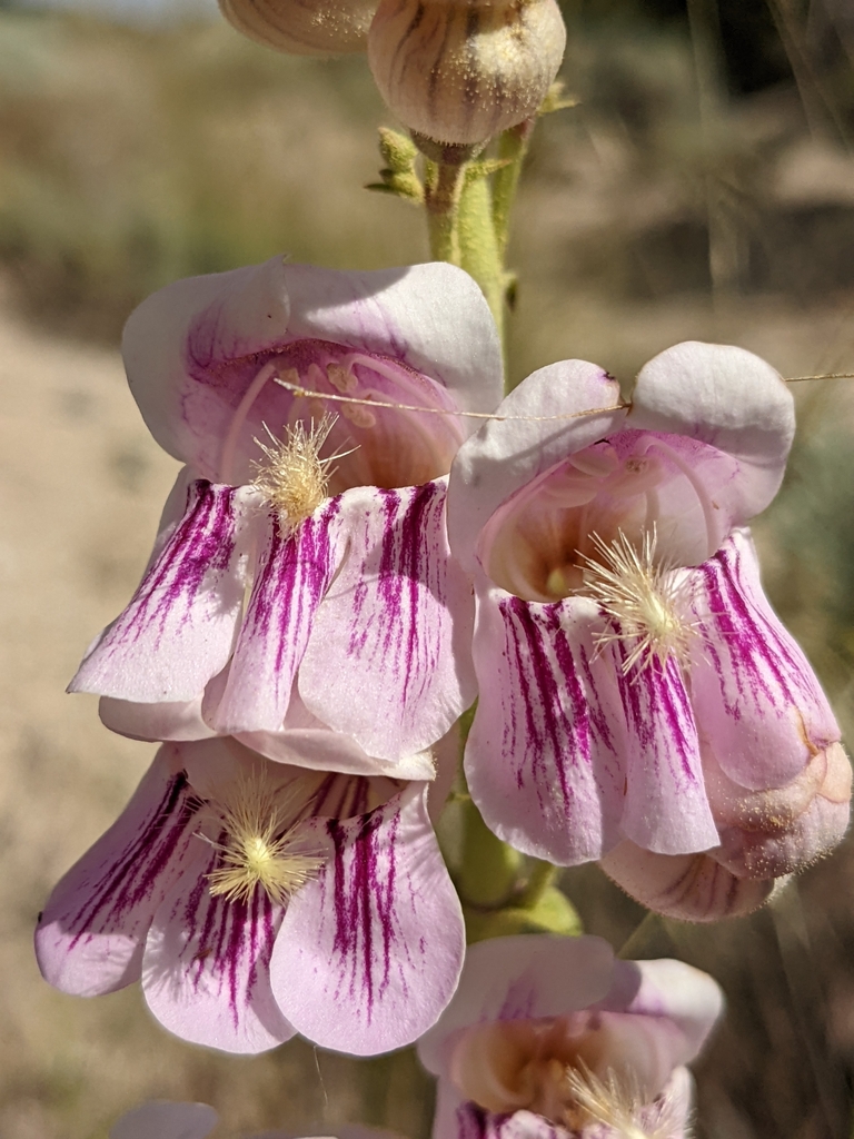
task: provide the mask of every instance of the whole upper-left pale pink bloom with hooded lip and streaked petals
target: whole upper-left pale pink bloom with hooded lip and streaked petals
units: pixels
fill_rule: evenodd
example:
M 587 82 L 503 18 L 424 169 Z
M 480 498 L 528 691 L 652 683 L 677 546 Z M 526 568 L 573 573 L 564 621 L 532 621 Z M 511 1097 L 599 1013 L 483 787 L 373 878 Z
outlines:
M 492 411 L 501 392 L 474 281 L 446 264 L 274 257 L 156 293 L 123 352 L 148 427 L 187 467 L 72 689 L 108 697 L 109 727 L 145 738 L 278 732 L 297 690 L 314 723 L 384 760 L 443 736 L 475 694 L 444 502 L 477 420 L 457 412 Z

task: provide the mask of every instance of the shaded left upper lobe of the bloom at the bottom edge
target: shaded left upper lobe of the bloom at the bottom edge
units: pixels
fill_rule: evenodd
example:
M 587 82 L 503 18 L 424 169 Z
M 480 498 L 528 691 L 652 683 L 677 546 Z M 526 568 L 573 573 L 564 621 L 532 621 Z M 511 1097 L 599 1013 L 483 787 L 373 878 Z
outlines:
M 614 981 L 614 951 L 601 937 L 523 934 L 469 945 L 457 992 L 418 1042 L 434 1075 L 447 1072 L 447 1042 L 491 1021 L 564 1016 L 602 1000 Z

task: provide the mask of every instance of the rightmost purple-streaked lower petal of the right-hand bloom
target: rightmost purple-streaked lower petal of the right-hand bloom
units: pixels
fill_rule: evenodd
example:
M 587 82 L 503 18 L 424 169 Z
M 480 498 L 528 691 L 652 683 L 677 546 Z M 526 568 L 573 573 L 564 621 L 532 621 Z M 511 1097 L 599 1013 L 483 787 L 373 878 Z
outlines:
M 742 787 L 781 787 L 839 727 L 800 647 L 771 608 L 748 531 L 691 575 L 698 620 L 691 702 L 723 771 Z

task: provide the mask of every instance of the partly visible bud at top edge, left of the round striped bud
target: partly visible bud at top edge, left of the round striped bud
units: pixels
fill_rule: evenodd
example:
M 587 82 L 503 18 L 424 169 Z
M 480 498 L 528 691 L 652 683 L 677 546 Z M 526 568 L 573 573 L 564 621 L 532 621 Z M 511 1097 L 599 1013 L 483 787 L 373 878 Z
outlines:
M 363 51 L 376 0 L 220 0 L 251 40 L 297 56 Z

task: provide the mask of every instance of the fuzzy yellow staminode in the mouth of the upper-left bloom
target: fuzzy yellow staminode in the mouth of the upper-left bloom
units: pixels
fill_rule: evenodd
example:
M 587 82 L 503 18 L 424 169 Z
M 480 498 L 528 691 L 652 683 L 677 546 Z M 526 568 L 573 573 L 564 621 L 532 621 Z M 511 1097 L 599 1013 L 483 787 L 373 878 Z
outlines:
M 320 451 L 336 424 L 335 416 L 325 415 L 318 426 L 311 420 L 305 429 L 302 420 L 286 428 L 279 440 L 264 424 L 269 443 L 255 443 L 264 453 L 264 461 L 254 462 L 253 486 L 279 514 L 281 524 L 293 531 L 313 514 L 328 494 L 330 466 L 343 454 L 320 458 Z M 348 452 L 350 453 L 350 452 Z

